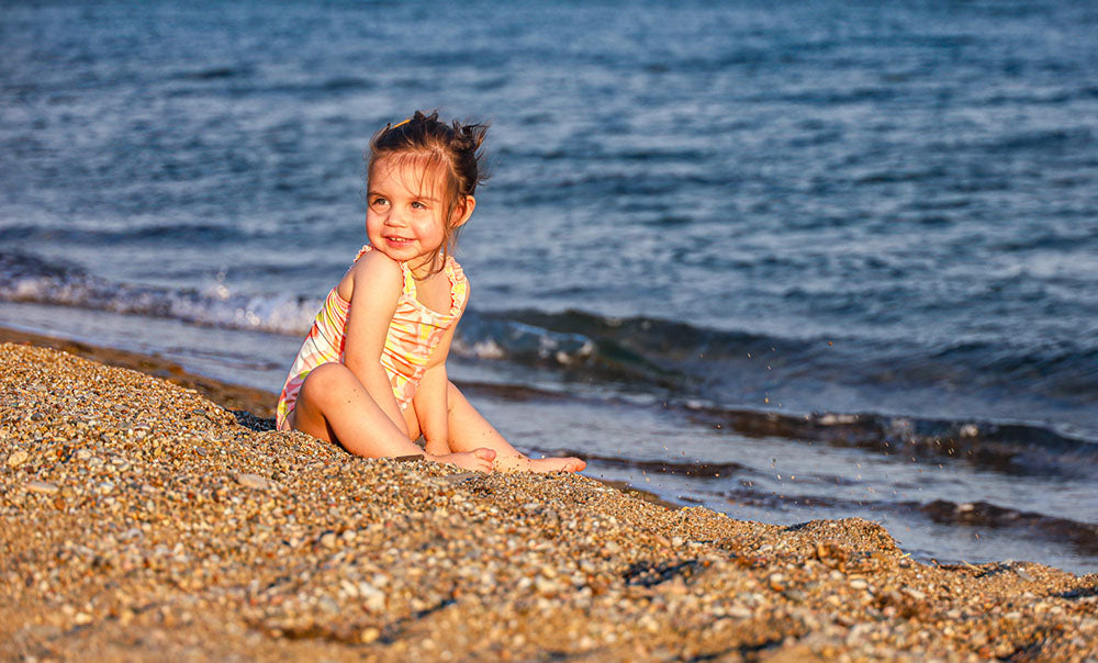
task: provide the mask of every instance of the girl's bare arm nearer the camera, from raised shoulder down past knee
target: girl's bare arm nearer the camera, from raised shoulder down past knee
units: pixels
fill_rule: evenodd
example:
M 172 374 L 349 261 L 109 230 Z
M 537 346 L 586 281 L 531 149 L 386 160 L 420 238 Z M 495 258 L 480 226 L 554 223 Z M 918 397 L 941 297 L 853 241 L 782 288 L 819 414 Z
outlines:
M 381 351 L 403 283 L 400 265 L 381 251 L 370 251 L 339 282 L 339 296 L 350 302 L 344 363 L 406 438 L 407 424 L 381 366 Z

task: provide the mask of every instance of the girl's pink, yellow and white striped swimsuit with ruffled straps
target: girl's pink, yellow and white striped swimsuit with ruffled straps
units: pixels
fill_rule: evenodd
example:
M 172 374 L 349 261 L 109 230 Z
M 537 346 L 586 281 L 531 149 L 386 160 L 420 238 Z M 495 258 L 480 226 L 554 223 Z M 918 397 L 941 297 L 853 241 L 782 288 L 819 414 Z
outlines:
M 363 246 L 355 256 L 357 262 L 373 247 Z M 401 409 L 407 409 L 415 395 L 419 380 L 427 370 L 427 360 L 438 347 L 442 336 L 457 322 L 464 307 L 469 294 L 469 282 L 461 266 L 452 256 L 446 257 L 442 268 L 450 282 L 450 310 L 438 313 L 427 308 L 416 300 L 415 279 L 412 270 L 404 262 L 400 263 L 404 276 L 404 286 L 396 302 L 396 312 L 389 323 L 385 335 L 385 347 L 381 351 L 381 366 L 389 375 L 393 395 Z M 339 296 L 338 285 L 332 289 L 324 300 L 309 336 L 301 344 L 301 350 L 290 367 L 290 374 L 278 400 L 277 423 L 279 430 L 289 430 L 287 417 L 298 402 L 298 392 L 305 382 L 305 377 L 316 367 L 328 362 L 343 362 L 344 344 L 346 342 L 347 314 L 350 302 Z

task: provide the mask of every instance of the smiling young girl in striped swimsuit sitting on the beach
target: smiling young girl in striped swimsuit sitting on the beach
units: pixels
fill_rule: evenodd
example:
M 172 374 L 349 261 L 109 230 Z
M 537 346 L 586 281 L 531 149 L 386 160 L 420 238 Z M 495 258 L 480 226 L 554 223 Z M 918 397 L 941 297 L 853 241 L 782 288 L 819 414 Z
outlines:
M 416 112 L 370 141 L 366 234 L 290 368 L 279 430 L 378 458 L 425 457 L 469 470 L 578 472 L 578 458 L 529 459 L 446 377 L 469 284 L 453 259 L 482 179 L 485 125 Z M 413 440 L 423 436 L 425 450 Z

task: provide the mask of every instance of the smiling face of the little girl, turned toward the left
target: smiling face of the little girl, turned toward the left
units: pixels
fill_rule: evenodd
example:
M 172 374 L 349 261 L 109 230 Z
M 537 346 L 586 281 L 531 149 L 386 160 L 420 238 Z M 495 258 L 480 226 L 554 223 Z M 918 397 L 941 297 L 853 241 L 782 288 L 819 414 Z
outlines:
M 407 262 L 416 276 L 433 271 L 446 239 L 442 177 L 408 159 L 381 158 L 370 171 L 366 234 L 374 249 Z

